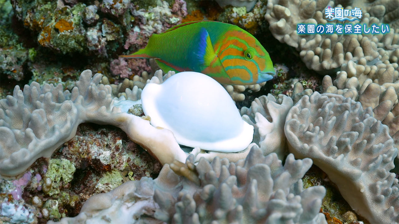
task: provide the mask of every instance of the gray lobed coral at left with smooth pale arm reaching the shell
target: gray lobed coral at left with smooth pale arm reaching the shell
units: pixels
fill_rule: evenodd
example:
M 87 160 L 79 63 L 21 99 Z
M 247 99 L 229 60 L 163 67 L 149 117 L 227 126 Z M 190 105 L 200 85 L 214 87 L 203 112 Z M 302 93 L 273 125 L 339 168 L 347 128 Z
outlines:
M 23 92 L 16 86 L 14 96 L 0 100 L 1 174 L 22 173 L 37 158 L 49 157 L 57 147 L 75 136 L 82 122 L 120 127 L 161 163 L 174 159 L 184 161 L 186 154 L 172 132 L 156 129 L 148 120 L 127 114 L 127 110 L 121 112 L 113 106 L 111 86 L 99 84 L 100 80 L 101 74 L 92 79 L 91 71 L 86 70 L 72 92 L 62 92 L 61 84 L 54 87 L 32 82 L 24 86 Z M 126 91 L 128 95 L 134 92 Z M 148 142 L 148 138 L 153 141 Z

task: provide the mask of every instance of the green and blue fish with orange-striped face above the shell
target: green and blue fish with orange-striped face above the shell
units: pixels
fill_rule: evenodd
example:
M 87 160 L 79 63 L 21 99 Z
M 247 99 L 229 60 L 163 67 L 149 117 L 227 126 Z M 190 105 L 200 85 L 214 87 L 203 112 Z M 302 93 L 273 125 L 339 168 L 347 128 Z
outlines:
M 144 49 L 127 58 L 153 58 L 163 71 L 195 71 L 221 84 L 263 83 L 275 74 L 269 53 L 238 26 L 194 21 L 152 34 Z

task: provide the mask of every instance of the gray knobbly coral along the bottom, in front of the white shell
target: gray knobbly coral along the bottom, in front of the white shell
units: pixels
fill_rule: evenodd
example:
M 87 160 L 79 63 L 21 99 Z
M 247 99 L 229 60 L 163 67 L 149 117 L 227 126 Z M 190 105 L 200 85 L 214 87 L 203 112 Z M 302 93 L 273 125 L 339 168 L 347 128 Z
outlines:
M 194 160 L 191 155 L 186 164 L 164 165 L 155 180 L 144 177 L 92 196 L 78 216 L 62 218 L 60 223 L 326 223 L 319 213 L 324 187 L 302 189 L 300 178 L 312 165 L 310 159 L 288 155 L 282 166 L 276 154 L 263 156 L 255 148 L 237 163 L 216 157 L 211 163 L 201 159 L 194 165 Z

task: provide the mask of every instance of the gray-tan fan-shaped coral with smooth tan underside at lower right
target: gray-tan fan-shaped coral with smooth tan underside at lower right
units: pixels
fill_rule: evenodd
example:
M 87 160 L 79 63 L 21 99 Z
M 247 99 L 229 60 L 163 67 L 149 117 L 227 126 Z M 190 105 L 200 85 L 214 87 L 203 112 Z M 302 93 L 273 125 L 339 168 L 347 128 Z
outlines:
M 350 206 L 371 223 L 399 222 L 399 185 L 389 128 L 371 108 L 342 95 L 314 92 L 288 112 L 290 152 L 310 157 L 327 173 Z

